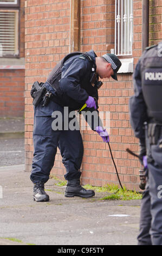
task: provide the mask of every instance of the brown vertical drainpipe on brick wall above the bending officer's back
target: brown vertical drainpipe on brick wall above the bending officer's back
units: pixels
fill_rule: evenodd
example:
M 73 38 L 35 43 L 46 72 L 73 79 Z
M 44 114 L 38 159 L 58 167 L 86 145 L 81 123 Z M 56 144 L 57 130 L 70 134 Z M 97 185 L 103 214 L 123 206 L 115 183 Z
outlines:
M 69 52 L 80 51 L 80 0 L 70 0 L 70 43 Z

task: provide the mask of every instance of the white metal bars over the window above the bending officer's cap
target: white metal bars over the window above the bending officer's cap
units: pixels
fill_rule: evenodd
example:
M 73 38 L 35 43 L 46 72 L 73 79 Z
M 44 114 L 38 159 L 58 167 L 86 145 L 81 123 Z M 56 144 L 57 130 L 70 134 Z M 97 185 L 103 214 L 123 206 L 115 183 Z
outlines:
M 132 55 L 133 0 L 115 0 L 115 54 Z

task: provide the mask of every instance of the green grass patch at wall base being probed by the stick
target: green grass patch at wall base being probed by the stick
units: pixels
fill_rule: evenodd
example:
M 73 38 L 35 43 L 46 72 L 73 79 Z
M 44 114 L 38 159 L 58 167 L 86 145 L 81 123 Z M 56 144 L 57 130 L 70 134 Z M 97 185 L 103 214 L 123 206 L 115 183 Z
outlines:
M 142 195 L 139 192 L 127 190 L 126 187 L 123 189 L 117 185 L 105 185 L 103 187 L 95 187 L 91 185 L 83 186 L 87 190 L 94 190 L 95 192 L 105 192 L 107 195 L 100 200 L 137 200 L 141 199 Z

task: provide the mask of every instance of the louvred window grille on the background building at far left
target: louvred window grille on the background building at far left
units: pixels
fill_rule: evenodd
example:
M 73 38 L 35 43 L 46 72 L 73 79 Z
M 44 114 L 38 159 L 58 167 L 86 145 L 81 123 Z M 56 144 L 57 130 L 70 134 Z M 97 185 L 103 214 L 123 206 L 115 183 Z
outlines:
M 18 10 L 0 10 L 0 56 L 18 54 Z

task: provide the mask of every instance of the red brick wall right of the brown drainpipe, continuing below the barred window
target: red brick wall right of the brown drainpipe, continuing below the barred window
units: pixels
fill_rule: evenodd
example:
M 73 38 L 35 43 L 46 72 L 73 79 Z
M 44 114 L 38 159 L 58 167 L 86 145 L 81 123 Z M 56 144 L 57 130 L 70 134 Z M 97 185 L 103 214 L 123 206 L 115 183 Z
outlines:
M 114 1 L 82 2 L 82 50 L 90 48 L 98 56 L 102 56 L 114 48 Z M 126 129 L 128 123 L 128 90 L 131 87 L 129 75 L 118 77 L 118 82 L 112 78 L 105 80 L 99 90 L 99 111 L 110 112 L 110 145 L 120 179 L 122 182 L 130 182 L 127 175 L 127 167 L 130 161 L 126 160 L 125 148 L 128 145 Z M 108 145 L 93 131 L 83 131 L 82 134 L 85 154 L 82 164 L 82 182 L 102 186 L 107 183 L 116 183 L 116 173 L 109 153 Z M 127 144 L 126 144 L 127 143 Z

